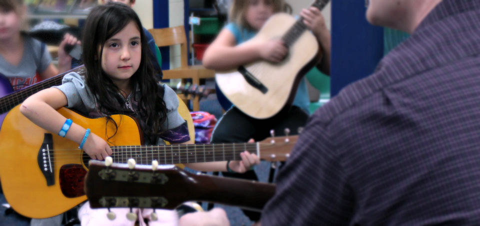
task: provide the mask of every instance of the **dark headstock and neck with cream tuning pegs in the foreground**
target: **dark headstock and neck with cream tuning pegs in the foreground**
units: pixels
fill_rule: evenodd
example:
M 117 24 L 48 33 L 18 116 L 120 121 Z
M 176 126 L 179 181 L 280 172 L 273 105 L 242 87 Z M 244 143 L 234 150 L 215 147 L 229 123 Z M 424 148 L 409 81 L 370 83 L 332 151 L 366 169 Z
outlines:
M 275 193 L 271 183 L 193 174 L 157 162 L 135 165 L 133 159 L 128 164 L 108 159 L 90 160 L 89 165 L 85 192 L 92 208 L 174 209 L 185 201 L 208 201 L 261 211 Z

